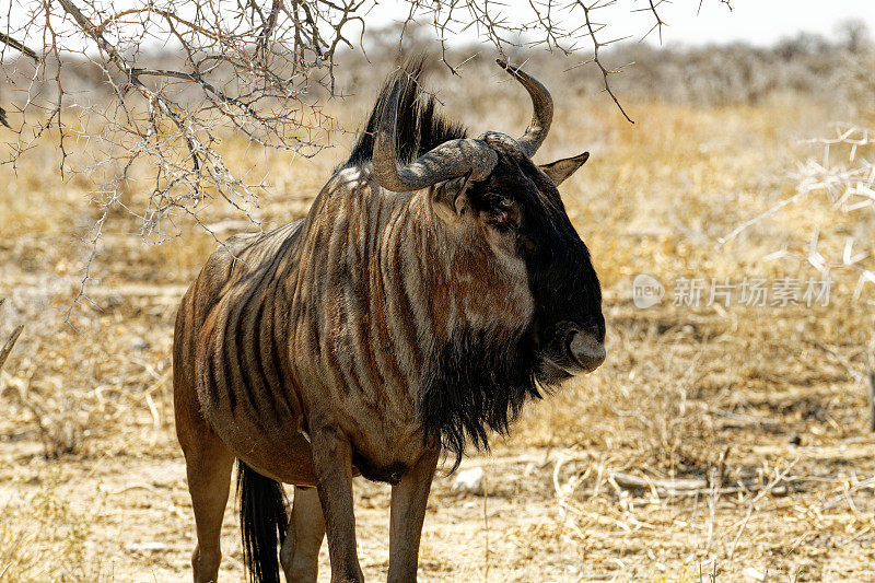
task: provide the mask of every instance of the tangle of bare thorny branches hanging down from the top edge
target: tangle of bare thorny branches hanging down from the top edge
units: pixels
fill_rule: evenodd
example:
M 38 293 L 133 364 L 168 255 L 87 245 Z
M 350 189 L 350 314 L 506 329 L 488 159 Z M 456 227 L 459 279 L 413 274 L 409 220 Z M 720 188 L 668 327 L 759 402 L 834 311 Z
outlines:
M 213 201 L 258 224 L 253 211 L 266 184 L 246 178 L 254 168 L 226 166 L 220 152 L 233 135 L 228 130 L 249 144 L 295 155 L 312 156 L 327 145 L 338 128 L 320 103 L 343 95 L 335 74 L 338 57 L 343 50 L 364 51 L 366 25 L 373 25 L 365 18 L 377 4 L 7 1 L 0 25 L 0 124 L 14 129 L 4 130 L 9 155 L 0 162 L 14 170 L 40 138 L 48 138 L 61 153 L 61 174 L 86 174 L 97 185 L 92 196 L 101 219 L 86 237 L 91 259 L 74 305 L 88 299 L 91 260 L 113 209 L 133 213 L 149 243 L 178 234 L 177 220 L 202 224 L 199 213 Z M 596 38 L 605 25 L 591 16 L 610 5 L 650 11 L 662 35 L 665 1 L 398 0 L 400 36 L 408 25 L 429 22 L 454 73 L 465 62 L 450 62 L 450 45 L 459 35 L 479 38 L 505 59 L 521 48 L 567 56 L 592 50 L 581 65 L 598 67 L 605 90 L 631 121 L 609 84 L 608 75 L 618 69 L 602 60 L 611 40 Z M 73 142 L 88 145 L 72 151 Z M 135 183 L 151 185 L 144 205 L 129 200 Z

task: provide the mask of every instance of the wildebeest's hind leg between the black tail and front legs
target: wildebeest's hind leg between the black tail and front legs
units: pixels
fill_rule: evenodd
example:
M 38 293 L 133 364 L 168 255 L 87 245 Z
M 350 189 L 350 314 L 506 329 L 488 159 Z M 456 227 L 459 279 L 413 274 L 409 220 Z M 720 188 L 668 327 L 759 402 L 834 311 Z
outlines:
M 280 551 L 289 583 L 312 583 L 319 572 L 319 547 L 325 538 L 319 493 L 315 488 L 294 488 L 292 520 Z

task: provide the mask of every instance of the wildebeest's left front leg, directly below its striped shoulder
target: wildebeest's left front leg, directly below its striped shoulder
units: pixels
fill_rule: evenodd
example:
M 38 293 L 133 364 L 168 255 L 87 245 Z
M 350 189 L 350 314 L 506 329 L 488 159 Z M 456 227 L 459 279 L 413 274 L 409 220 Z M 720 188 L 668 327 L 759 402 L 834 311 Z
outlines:
M 332 583 L 364 581 L 355 550 L 352 511 L 352 446 L 335 428 L 313 428 L 313 465 L 319 492 Z

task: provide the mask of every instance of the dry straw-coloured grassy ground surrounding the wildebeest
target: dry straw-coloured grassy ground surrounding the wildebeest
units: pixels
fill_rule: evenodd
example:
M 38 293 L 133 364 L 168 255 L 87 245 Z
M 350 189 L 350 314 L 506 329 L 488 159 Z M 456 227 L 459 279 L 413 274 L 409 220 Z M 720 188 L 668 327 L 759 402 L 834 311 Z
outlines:
M 563 196 L 606 290 L 608 362 L 529 407 L 492 455 L 465 460 L 486 469 L 487 495 L 435 480 L 421 579 L 875 581 L 875 434 L 861 377 L 873 364 L 871 293 L 854 301 L 855 276 L 839 270 L 826 307 L 693 310 L 670 296 L 680 276 L 819 277 L 763 261 L 803 249 L 815 228 L 820 253 L 841 252 L 859 225 L 818 198 L 716 245 L 792 194 L 788 172 L 809 153 L 797 140 L 822 132 L 830 113 L 794 100 L 637 103 L 631 127 L 607 100 L 564 98 L 541 160 L 593 152 Z M 492 107 L 465 114 L 477 131 Z M 494 121 L 513 130 L 527 115 Z M 341 155 L 291 166 L 269 155 L 279 170 L 259 217 L 302 215 Z M 185 580 L 194 521 L 170 349 L 176 302 L 214 242 L 184 225 L 145 246 L 117 213 L 93 265 L 94 305 L 72 313 L 73 329 L 65 311 L 88 254 L 75 242 L 97 211 L 83 179 L 47 171 L 56 164 L 39 150 L 16 174 L 0 168 L 0 336 L 26 326 L 0 378 L 0 580 Z M 208 212 L 221 236 L 247 228 Z M 668 288 L 661 306 L 632 305 L 639 272 Z M 362 565 L 380 580 L 388 488 L 357 480 L 355 501 Z M 223 578 L 242 580 L 233 504 L 223 549 Z

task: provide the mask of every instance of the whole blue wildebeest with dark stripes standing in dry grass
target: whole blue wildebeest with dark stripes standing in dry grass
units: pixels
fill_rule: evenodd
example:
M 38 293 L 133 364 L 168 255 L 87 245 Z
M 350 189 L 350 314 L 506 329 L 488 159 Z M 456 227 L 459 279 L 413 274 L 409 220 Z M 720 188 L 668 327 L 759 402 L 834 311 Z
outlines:
M 176 431 L 213 581 L 234 459 L 256 581 L 361 581 L 351 480 L 393 486 L 389 581 L 415 581 L 441 451 L 486 447 L 529 398 L 605 359 L 602 292 L 557 186 L 588 154 L 532 162 L 547 90 L 513 139 L 466 131 L 392 77 L 306 218 L 231 238 L 182 301 Z M 294 485 L 291 517 L 281 482 Z M 278 552 L 278 540 L 280 550 Z M 278 560 L 279 555 L 279 560 Z

